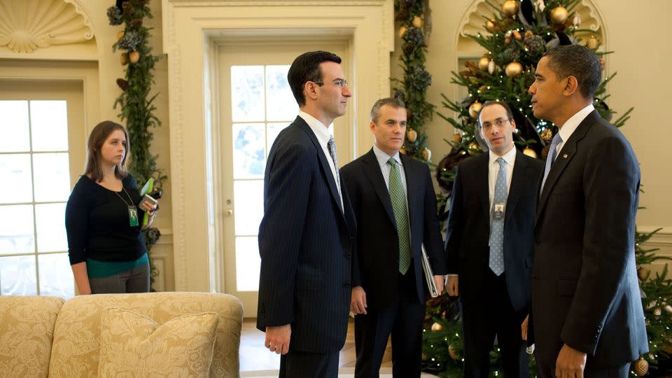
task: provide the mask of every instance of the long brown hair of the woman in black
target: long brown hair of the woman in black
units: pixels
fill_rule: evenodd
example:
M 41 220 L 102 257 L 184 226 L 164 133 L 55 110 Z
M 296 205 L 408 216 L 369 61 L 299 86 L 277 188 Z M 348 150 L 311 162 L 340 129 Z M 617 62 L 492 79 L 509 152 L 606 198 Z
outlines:
M 100 149 L 110 134 L 116 130 L 124 132 L 124 136 L 126 137 L 126 153 L 121 162 L 114 167 L 114 175 L 117 176 L 118 179 L 123 179 L 127 175 L 126 160 L 131 149 L 131 141 L 128 140 L 128 132 L 122 125 L 112 122 L 111 120 L 106 120 L 99 123 L 93 130 L 91 130 L 89 140 L 86 144 L 86 167 L 84 168 L 84 174 L 89 176 L 90 179 L 96 183 L 103 179 L 103 169 L 100 164 Z

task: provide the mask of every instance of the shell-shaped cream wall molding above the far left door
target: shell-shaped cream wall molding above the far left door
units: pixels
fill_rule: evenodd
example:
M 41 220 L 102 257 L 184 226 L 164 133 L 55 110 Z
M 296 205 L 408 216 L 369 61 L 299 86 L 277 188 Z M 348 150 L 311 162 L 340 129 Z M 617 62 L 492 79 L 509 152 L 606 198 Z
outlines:
M 77 0 L 0 1 L 0 46 L 31 53 L 94 37 L 92 22 Z

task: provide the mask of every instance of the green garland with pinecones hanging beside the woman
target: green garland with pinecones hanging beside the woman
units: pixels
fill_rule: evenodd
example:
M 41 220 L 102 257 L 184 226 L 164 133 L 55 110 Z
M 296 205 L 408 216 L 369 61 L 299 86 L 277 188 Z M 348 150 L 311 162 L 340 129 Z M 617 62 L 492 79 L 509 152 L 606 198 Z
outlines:
M 124 30 L 118 34 L 118 41 L 112 46 L 113 51 L 123 50 L 121 64 L 126 65 L 126 77 L 118 78 L 117 85 L 122 89 L 121 94 L 114 102 L 114 108 L 120 106 L 119 118 L 126 121 L 130 139 L 129 172 L 143 185 L 148 179 L 155 179 L 155 186 L 160 188 L 167 178 L 161 169 L 156 167 L 156 158 L 151 155 L 149 147 L 153 139 L 151 127 L 161 125 L 153 111 L 154 99 L 149 92 L 154 83 L 154 64 L 160 57 L 151 54 L 152 48 L 148 45 L 150 29 L 144 26 L 144 18 L 152 18 L 147 6 L 148 0 L 117 1 L 116 6 L 107 9 L 110 25 L 124 25 Z M 158 241 L 161 232 L 157 228 L 147 228 L 143 231 L 147 251 Z M 158 269 L 153 264 L 150 253 L 151 281 L 158 275 Z

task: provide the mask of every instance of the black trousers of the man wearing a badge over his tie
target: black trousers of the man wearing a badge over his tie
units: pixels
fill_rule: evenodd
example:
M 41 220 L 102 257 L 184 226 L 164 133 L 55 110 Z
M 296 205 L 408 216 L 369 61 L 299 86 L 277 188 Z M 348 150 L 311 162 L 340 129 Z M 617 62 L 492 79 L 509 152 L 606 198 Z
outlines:
M 514 279 L 514 278 L 513 278 Z M 517 313 L 506 287 L 506 272 L 500 276 L 486 267 L 477 298 L 460 297 L 464 340 L 464 376 L 488 377 L 490 351 L 497 336 L 504 377 L 528 377 L 529 357 L 520 325 L 527 314 Z

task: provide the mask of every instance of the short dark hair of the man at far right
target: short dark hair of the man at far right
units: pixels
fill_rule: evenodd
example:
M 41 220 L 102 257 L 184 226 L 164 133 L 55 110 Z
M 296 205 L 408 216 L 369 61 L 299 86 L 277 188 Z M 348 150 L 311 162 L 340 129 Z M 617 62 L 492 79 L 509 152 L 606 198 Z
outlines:
M 560 45 L 544 56 L 548 57 L 549 69 L 558 80 L 574 76 L 584 99 L 593 99 L 602 80 L 602 67 L 595 52 L 583 45 Z

